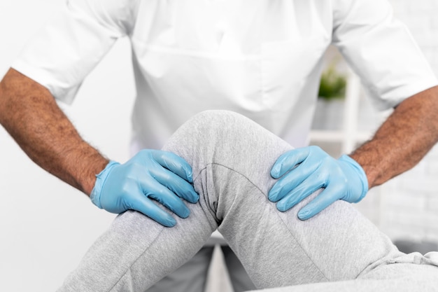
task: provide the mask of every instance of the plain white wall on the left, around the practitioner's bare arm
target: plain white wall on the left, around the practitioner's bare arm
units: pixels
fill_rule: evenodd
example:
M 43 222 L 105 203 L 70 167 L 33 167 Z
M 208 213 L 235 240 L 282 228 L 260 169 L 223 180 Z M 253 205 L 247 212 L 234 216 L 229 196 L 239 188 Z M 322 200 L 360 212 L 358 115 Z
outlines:
M 0 1 L 1 77 L 27 39 L 63 3 Z M 131 77 L 129 42 L 122 39 L 83 84 L 73 105 L 64 106 L 85 139 L 119 161 L 128 158 L 135 94 Z M 114 215 L 34 165 L 2 127 L 0 149 L 0 291 L 55 291 Z

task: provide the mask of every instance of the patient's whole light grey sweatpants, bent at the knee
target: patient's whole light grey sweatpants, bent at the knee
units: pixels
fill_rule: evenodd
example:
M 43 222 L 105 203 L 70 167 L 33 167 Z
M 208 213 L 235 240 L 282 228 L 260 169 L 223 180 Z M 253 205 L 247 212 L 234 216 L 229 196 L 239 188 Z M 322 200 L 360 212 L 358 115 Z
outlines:
M 316 193 L 277 211 L 267 199 L 275 182 L 269 171 L 291 148 L 236 113 L 195 116 L 164 146 L 192 165 L 200 199 L 188 204 L 190 217 L 165 228 L 135 211 L 121 214 L 59 291 L 145 291 L 195 255 L 216 228 L 255 285 L 268 291 L 438 291 L 436 253 L 401 253 L 346 202 L 307 221 L 297 211 Z

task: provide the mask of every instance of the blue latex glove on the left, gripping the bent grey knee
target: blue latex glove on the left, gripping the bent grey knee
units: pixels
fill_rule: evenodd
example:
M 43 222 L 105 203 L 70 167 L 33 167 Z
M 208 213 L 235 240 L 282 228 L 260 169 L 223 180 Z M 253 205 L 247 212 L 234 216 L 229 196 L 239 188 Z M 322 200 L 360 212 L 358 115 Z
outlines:
M 199 200 L 190 184 L 192 167 L 170 152 L 142 150 L 125 164 L 109 162 L 96 177 L 90 198 L 97 207 L 116 214 L 140 211 L 168 227 L 176 224 L 175 219 L 153 200 L 181 218 L 190 214 L 181 197 L 192 203 Z

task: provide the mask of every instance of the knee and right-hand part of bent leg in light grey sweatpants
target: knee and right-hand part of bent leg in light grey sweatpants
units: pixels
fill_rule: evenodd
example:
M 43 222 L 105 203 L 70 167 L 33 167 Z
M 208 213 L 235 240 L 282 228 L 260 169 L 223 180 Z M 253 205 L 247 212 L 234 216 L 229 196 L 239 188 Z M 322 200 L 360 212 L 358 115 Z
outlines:
M 418 286 L 411 275 L 416 272 L 424 277 L 431 272 L 435 283 L 438 281 L 436 261 L 415 260 L 400 253 L 351 204 L 336 202 L 309 221 L 299 221 L 297 211 L 311 198 L 290 211 L 278 212 L 267 200 L 274 183 L 269 170 L 291 147 L 246 118 L 227 112 L 202 113 L 181 130 L 167 149 L 197 169 L 195 187 L 256 286 L 356 278 L 384 286 L 388 279 L 408 281 L 409 277 L 412 289 Z M 199 141 L 197 133 L 202 133 L 204 140 Z M 413 264 L 422 261 L 425 265 Z M 367 288 L 360 281 L 354 285 Z

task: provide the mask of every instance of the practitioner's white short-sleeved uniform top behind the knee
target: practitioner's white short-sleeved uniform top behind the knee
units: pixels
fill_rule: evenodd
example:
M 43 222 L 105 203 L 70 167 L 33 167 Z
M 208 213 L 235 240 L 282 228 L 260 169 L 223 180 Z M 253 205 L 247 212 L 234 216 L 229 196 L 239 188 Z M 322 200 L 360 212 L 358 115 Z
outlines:
M 70 0 L 13 63 L 72 102 L 122 36 L 136 78 L 133 148 L 161 148 L 206 109 L 242 113 L 306 146 L 333 43 L 381 109 L 437 85 L 384 0 Z

